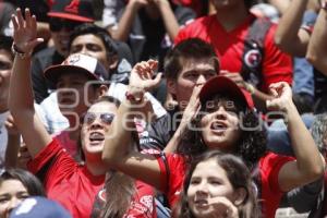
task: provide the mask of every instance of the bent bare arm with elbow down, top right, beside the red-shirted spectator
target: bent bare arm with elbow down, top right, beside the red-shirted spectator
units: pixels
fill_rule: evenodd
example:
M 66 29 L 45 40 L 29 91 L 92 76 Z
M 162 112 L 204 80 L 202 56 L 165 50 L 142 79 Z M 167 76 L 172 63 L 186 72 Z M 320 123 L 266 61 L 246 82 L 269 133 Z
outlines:
M 304 57 L 310 35 L 301 29 L 302 16 L 308 0 L 293 0 L 281 16 L 275 34 L 276 45 L 292 56 Z

